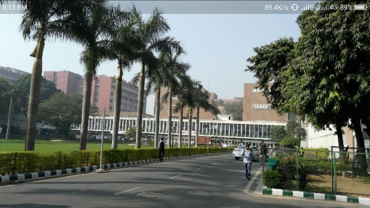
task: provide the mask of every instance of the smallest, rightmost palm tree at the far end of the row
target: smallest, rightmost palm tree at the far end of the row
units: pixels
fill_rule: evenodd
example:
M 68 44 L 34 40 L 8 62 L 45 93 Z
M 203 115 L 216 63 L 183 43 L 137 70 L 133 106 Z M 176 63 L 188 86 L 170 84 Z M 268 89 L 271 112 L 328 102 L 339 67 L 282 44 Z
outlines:
M 207 90 L 203 89 L 200 85 L 200 88 L 198 88 L 198 96 L 196 97 L 195 100 L 195 107 L 197 108 L 197 122 L 195 126 L 195 146 L 198 147 L 198 135 L 199 135 L 199 113 L 200 109 L 204 109 L 204 111 L 209 111 L 213 115 L 217 115 L 220 113 L 217 107 L 213 106 L 211 103 L 209 103 L 209 93 Z

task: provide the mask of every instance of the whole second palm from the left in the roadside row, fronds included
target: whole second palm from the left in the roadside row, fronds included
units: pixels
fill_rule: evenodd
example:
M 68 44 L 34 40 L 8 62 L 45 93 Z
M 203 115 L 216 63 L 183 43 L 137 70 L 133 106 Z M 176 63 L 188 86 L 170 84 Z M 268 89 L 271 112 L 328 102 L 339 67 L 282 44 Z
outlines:
M 80 62 L 85 66 L 80 150 L 86 149 L 90 109 L 91 82 L 101 61 L 112 56 L 110 35 L 129 17 L 120 7 L 108 7 L 104 1 L 88 1 L 90 7 L 76 18 L 68 19 L 63 28 L 67 37 L 84 47 Z

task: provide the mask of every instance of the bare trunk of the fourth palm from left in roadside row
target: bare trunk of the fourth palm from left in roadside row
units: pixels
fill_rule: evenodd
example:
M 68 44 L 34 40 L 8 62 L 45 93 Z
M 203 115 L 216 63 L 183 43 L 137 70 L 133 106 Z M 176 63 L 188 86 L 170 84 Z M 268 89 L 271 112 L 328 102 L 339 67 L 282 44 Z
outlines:
M 141 71 L 140 71 L 140 77 L 139 77 L 139 93 L 138 93 L 138 99 L 137 99 L 135 149 L 141 148 L 141 125 L 143 123 L 144 87 L 145 87 L 145 65 L 144 63 L 141 63 Z

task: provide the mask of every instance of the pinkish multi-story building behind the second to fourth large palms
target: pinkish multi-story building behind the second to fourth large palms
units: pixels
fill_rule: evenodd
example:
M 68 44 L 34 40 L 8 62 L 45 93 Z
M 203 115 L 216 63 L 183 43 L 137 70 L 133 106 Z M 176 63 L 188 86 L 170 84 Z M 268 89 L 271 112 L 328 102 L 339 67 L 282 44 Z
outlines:
M 116 79 L 114 76 L 98 76 L 91 85 L 90 101 L 92 105 L 98 107 L 100 111 L 114 111 L 114 91 Z M 137 111 L 138 88 L 122 80 L 121 111 Z M 143 114 L 146 113 L 146 96 L 144 96 Z

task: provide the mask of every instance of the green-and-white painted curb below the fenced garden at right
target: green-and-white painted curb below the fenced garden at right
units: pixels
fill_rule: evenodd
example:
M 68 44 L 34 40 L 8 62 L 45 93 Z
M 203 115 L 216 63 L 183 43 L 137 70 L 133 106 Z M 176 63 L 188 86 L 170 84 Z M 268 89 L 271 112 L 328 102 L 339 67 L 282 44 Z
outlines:
M 331 200 L 331 201 L 340 201 L 340 202 L 351 202 L 359 203 L 363 205 L 370 206 L 370 198 L 367 197 L 357 197 L 357 196 L 344 196 L 344 195 L 335 195 L 328 193 L 314 193 L 306 191 L 294 191 L 294 190 L 283 190 L 275 188 L 262 187 L 262 195 L 278 195 L 278 196 L 295 196 L 301 198 L 311 198 L 318 200 Z

